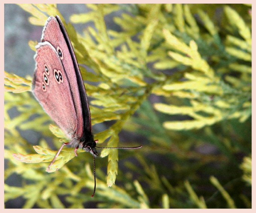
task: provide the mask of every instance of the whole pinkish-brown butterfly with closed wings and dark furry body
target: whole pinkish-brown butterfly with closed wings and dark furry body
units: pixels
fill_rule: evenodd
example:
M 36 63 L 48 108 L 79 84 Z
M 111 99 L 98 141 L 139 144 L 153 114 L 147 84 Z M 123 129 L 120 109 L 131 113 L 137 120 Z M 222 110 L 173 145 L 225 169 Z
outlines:
M 72 147 L 98 155 L 84 82 L 72 44 L 58 16 L 47 19 L 36 49 L 34 96 L 70 139 Z

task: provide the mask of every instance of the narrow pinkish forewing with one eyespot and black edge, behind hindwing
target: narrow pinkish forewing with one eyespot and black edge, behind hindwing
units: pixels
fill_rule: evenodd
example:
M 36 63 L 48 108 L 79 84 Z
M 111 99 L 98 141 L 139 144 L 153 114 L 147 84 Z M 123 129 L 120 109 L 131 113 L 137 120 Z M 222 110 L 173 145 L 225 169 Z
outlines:
M 43 29 L 41 41 L 49 41 L 58 52 L 63 67 L 66 70 L 73 95 L 74 105 L 78 116 L 78 129 L 81 132 L 91 133 L 91 116 L 87 94 L 81 72 L 76 60 L 75 52 L 67 31 L 58 16 L 49 17 Z M 85 130 L 85 131 L 84 131 Z

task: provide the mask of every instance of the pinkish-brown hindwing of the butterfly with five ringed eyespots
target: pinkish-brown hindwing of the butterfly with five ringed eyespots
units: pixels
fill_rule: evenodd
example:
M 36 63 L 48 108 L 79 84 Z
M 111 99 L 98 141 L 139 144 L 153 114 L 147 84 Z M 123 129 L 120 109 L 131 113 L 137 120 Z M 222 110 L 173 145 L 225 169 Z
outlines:
M 65 68 L 49 42 L 39 43 L 32 92 L 47 114 L 70 139 L 78 139 L 78 117 Z

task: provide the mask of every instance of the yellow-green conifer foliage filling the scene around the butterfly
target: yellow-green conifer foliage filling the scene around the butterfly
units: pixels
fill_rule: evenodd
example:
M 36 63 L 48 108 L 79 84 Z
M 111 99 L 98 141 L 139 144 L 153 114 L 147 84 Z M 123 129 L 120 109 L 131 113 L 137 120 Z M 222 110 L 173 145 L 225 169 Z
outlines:
M 93 198 L 89 153 L 64 148 L 45 172 L 64 135 L 32 96 L 32 73 L 8 68 L 6 208 L 251 208 L 250 4 L 87 4 L 69 20 L 58 5 L 19 6 L 41 29 L 50 15 L 64 22 L 98 146 L 143 148 L 102 150 Z M 32 131 L 37 146 L 22 136 Z

